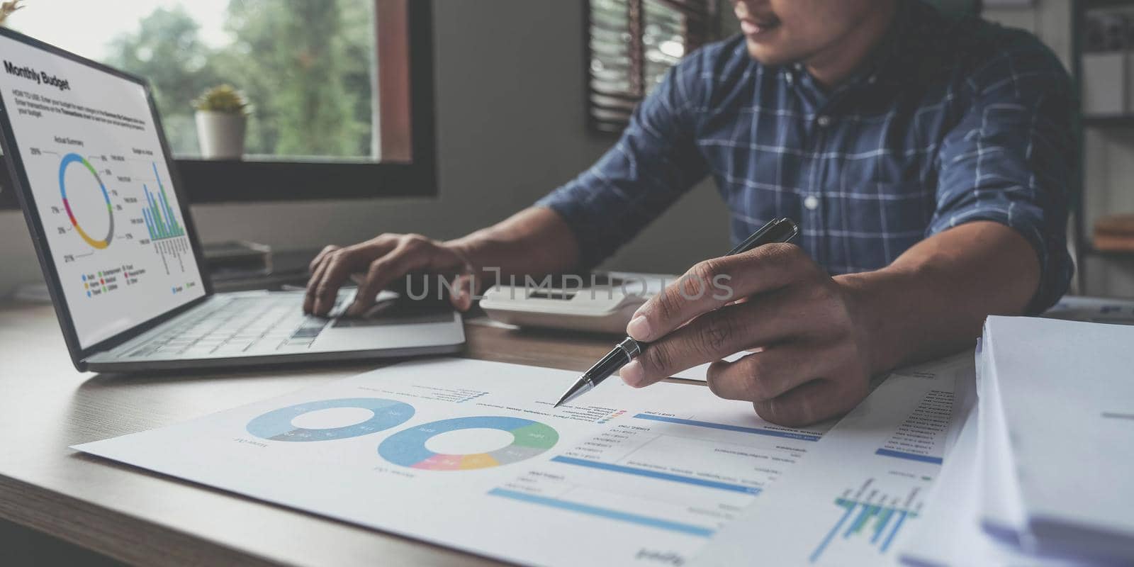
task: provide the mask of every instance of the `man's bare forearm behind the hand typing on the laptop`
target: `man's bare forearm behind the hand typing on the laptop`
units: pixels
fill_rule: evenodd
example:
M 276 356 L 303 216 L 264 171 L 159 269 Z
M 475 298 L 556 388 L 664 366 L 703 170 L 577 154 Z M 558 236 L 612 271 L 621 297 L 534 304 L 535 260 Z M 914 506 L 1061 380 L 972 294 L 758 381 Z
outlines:
M 560 273 L 578 264 L 575 234 L 545 208 L 525 209 L 446 244 L 460 249 L 488 285 L 497 276 Z

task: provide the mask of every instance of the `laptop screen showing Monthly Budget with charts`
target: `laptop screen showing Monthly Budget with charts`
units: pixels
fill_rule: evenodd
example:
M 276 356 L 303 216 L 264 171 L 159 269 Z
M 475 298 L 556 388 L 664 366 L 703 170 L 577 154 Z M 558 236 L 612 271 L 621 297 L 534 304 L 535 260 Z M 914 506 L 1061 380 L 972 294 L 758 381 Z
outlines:
M 3 99 L 79 346 L 205 294 L 143 85 L 0 36 Z

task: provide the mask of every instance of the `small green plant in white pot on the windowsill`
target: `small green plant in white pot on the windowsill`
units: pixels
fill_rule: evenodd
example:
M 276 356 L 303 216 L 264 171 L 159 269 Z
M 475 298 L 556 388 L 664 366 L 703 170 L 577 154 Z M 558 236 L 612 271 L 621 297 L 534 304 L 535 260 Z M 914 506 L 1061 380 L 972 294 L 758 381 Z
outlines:
M 193 101 L 197 110 L 201 155 L 210 160 L 238 160 L 244 155 L 244 134 L 252 111 L 247 99 L 232 85 L 214 86 Z

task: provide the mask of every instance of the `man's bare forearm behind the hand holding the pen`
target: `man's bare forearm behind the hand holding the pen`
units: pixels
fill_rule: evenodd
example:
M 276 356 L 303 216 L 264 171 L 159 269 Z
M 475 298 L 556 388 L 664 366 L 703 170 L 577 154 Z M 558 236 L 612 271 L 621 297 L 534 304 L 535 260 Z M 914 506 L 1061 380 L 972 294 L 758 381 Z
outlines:
M 1019 314 L 1039 286 L 1035 251 L 1012 228 L 980 221 L 919 243 L 889 266 L 836 278 L 864 325 L 874 373 L 973 341 L 989 314 Z

